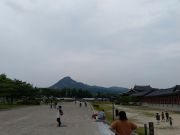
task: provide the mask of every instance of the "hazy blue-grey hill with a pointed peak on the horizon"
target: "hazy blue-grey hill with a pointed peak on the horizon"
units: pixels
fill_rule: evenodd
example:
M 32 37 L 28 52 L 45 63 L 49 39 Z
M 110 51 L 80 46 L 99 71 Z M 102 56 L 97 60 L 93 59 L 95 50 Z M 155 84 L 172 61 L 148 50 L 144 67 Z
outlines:
M 85 89 L 89 90 L 90 92 L 102 92 L 102 93 L 122 93 L 125 91 L 128 91 L 127 88 L 123 87 L 100 87 L 100 86 L 90 86 L 87 84 L 84 84 L 82 82 L 76 82 L 71 77 L 64 77 L 63 79 L 59 80 L 54 85 L 50 86 L 49 88 L 52 89 L 63 89 L 63 88 L 76 88 L 76 89 Z

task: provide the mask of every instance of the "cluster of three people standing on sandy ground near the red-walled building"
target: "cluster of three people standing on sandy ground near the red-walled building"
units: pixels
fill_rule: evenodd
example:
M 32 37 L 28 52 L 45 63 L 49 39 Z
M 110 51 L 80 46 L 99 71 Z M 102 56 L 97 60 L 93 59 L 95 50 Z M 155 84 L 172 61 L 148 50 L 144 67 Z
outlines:
M 172 126 L 172 117 L 169 116 L 169 113 L 166 111 L 161 112 L 161 115 L 159 113 L 156 113 L 156 120 L 157 120 L 157 124 L 160 124 L 160 121 L 162 122 L 169 122 L 170 126 Z

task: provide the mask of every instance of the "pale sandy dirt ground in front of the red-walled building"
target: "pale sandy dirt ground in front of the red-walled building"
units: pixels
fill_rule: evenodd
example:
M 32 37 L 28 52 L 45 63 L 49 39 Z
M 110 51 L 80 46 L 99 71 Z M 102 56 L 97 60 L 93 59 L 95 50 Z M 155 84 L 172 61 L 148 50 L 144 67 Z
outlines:
M 162 111 L 159 109 L 152 109 L 146 107 L 125 107 L 125 106 L 116 106 L 119 110 L 124 110 L 127 112 L 127 117 L 135 122 L 138 126 L 144 126 L 148 122 L 154 123 L 154 133 L 155 135 L 180 135 L 180 114 L 175 112 L 168 112 L 172 117 L 172 126 L 169 122 L 160 121 L 160 124 L 157 124 L 155 114 L 161 114 Z

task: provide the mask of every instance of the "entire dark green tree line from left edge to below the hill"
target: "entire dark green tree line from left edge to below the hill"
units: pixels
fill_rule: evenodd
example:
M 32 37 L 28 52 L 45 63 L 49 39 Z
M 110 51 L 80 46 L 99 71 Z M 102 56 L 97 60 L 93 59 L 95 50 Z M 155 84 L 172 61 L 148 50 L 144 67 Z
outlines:
M 50 98 L 91 98 L 91 97 L 107 97 L 108 94 L 91 93 L 84 89 L 69 89 L 61 90 L 50 88 L 37 88 L 32 84 L 18 80 L 10 79 L 5 74 L 0 74 L 0 103 L 22 103 L 22 104 L 38 104 L 45 97 Z

